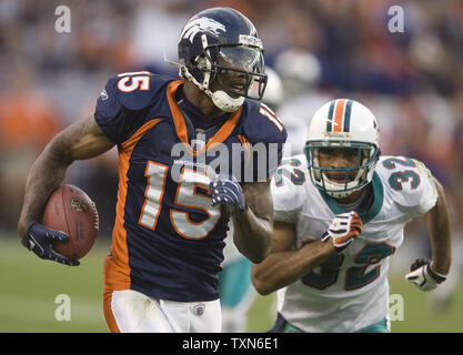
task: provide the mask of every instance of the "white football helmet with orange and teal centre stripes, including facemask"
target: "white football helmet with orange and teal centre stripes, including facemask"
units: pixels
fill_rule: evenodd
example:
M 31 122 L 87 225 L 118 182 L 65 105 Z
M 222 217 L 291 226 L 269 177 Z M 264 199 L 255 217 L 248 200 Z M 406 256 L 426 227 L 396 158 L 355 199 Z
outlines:
M 323 148 L 356 150 L 356 166 L 334 169 L 320 166 Z M 310 176 L 315 186 L 335 199 L 343 199 L 364 187 L 373 179 L 380 156 L 380 135 L 373 113 L 360 102 L 338 99 L 321 106 L 312 118 L 304 153 Z M 344 182 L 328 178 L 328 172 L 342 172 Z

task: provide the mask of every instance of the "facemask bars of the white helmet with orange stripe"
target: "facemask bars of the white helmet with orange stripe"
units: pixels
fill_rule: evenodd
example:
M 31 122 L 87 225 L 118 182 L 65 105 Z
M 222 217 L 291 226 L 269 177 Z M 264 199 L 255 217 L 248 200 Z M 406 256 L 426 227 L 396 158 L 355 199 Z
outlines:
M 353 150 L 353 153 L 356 154 L 356 165 L 344 169 L 320 166 L 320 150 L 326 148 Z M 312 182 L 316 187 L 335 199 L 346 197 L 370 183 L 380 156 L 378 145 L 355 141 L 308 141 L 304 153 Z M 343 176 L 344 182 L 329 178 L 333 175 Z

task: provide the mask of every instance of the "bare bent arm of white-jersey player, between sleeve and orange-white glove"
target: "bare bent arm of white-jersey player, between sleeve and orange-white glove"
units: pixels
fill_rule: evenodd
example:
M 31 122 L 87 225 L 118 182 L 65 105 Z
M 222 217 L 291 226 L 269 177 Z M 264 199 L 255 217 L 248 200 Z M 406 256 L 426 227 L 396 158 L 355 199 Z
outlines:
M 288 286 L 336 253 L 333 243 L 321 241 L 314 241 L 294 251 L 294 224 L 274 223 L 270 255 L 251 267 L 251 280 L 260 294 L 268 295 Z

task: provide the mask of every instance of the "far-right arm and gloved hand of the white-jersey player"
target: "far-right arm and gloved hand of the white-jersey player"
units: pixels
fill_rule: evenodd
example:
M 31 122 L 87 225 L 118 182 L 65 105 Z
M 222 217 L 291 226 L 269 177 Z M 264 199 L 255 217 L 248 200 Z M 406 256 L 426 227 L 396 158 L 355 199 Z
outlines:
M 449 204 L 444 187 L 435 178 L 433 181 L 437 191 L 437 201 L 434 207 L 424 214 L 431 240 L 432 261 L 416 260 L 406 275 L 406 280 L 413 282 L 422 291 L 434 290 L 437 284 L 445 281 L 452 262 Z

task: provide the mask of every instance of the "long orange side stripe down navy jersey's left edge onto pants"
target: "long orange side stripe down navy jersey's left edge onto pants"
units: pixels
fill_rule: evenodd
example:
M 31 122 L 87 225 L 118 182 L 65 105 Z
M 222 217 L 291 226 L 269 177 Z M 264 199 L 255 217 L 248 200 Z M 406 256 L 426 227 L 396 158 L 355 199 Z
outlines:
M 123 227 L 124 209 L 128 190 L 127 173 L 130 168 L 130 158 L 133 149 L 140 139 L 162 119 L 151 120 L 144 123 L 132 136 L 119 145 L 119 190 L 118 204 L 115 206 L 115 222 L 112 230 L 111 254 L 104 258 L 103 276 L 104 276 L 104 317 L 108 326 L 113 327 L 112 312 L 108 313 L 107 293 L 111 295 L 114 290 L 130 290 L 130 266 L 129 252 L 127 246 L 127 232 Z M 108 317 L 107 317 L 108 314 Z

